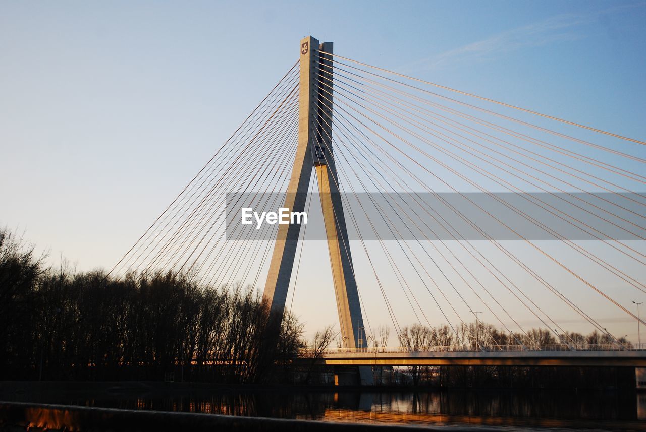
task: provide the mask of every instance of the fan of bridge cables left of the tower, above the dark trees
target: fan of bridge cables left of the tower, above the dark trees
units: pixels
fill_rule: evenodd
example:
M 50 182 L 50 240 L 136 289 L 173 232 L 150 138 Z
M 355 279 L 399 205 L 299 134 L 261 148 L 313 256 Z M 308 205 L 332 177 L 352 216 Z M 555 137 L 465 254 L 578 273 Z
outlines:
M 298 76 L 297 62 L 110 274 L 185 271 L 212 286 L 257 284 L 275 226 L 242 233 L 225 213 L 282 201 L 297 144 Z M 228 208 L 227 193 L 236 193 Z

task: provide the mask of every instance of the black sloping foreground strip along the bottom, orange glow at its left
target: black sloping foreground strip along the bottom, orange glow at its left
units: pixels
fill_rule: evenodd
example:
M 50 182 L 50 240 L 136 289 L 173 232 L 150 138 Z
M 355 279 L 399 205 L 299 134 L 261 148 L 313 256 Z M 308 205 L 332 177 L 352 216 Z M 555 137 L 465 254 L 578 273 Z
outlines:
M 130 409 L 94 408 L 69 405 L 0 402 L 2 431 L 402 431 L 445 427 L 376 426 L 373 424 L 339 424 L 312 420 L 264 417 L 236 417 L 216 414 L 134 411 Z M 451 431 L 499 431 L 501 429 L 452 426 Z

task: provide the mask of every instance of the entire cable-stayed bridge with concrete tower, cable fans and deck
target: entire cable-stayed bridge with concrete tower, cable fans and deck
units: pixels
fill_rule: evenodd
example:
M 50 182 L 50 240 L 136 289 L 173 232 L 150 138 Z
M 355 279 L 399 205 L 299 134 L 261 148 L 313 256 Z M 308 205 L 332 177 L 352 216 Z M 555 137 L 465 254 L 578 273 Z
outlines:
M 646 294 L 645 149 L 306 37 L 110 273 L 264 284 L 282 314 L 318 282 L 299 271 L 309 232 L 328 247 L 315 259 L 331 264 L 339 315 L 328 364 L 646 366 L 620 326 L 644 324 L 632 303 Z M 309 221 L 242 222 L 279 208 Z

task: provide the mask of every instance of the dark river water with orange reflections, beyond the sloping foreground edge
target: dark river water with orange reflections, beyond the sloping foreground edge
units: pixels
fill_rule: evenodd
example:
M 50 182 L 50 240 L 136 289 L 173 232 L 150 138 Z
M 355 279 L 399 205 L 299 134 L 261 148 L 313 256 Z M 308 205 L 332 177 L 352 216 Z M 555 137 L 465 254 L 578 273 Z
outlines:
M 334 422 L 643 429 L 646 394 L 632 391 L 297 392 L 126 389 L 88 395 L 39 391 L 16 400 Z

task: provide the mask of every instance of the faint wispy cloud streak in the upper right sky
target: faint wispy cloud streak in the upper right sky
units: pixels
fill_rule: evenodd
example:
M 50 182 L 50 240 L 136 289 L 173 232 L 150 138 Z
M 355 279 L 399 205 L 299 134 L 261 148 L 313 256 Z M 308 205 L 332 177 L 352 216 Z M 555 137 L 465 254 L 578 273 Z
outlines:
M 596 22 L 599 17 L 640 5 L 643 5 L 643 3 L 616 6 L 586 14 L 555 15 L 543 21 L 537 21 L 536 23 L 507 30 L 481 41 L 434 55 L 428 59 L 405 64 L 400 69 L 406 70 L 406 72 L 412 72 L 413 70 L 443 68 L 448 64 L 452 66 L 456 64 L 473 64 L 479 61 L 497 59 L 505 54 L 524 48 L 577 41 L 586 37 L 584 26 Z

